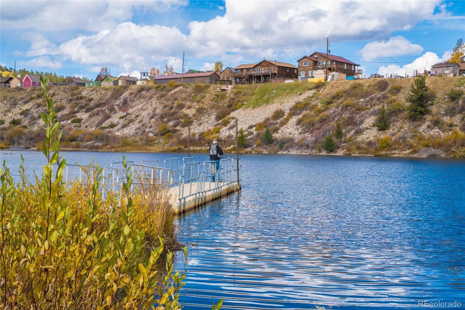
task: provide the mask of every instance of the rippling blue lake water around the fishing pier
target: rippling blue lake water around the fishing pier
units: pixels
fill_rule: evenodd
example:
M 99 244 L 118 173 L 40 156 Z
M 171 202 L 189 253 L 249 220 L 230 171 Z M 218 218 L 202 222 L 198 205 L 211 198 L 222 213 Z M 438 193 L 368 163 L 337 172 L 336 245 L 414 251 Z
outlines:
M 10 166 L 19 158 L 12 153 L 1 155 Z M 28 171 L 41 170 L 40 153 L 23 154 Z M 108 165 L 122 154 L 65 156 Z M 223 309 L 465 304 L 464 160 L 241 158 L 240 193 L 178 218 L 178 239 L 189 245 L 185 309 L 220 298 Z

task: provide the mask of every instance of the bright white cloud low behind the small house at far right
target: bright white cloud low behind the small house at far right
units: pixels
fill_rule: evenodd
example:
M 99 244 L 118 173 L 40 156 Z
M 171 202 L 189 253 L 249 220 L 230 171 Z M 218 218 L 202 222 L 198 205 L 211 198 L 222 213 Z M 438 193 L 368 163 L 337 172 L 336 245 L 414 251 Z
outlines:
M 447 52 L 445 52 L 441 58 L 439 58 L 439 56 L 435 53 L 426 52 L 422 56 L 412 61 L 412 63 L 409 63 L 408 65 L 404 65 L 402 67 L 400 67 L 399 65 L 389 65 L 387 67 L 381 66 L 379 67 L 378 74 L 388 76 L 391 74 L 397 74 L 404 76 L 405 74 L 414 74 L 415 70 L 418 70 L 419 73 L 422 73 L 424 69 L 430 71 L 432 65 L 447 60 L 448 56 L 449 54 Z

